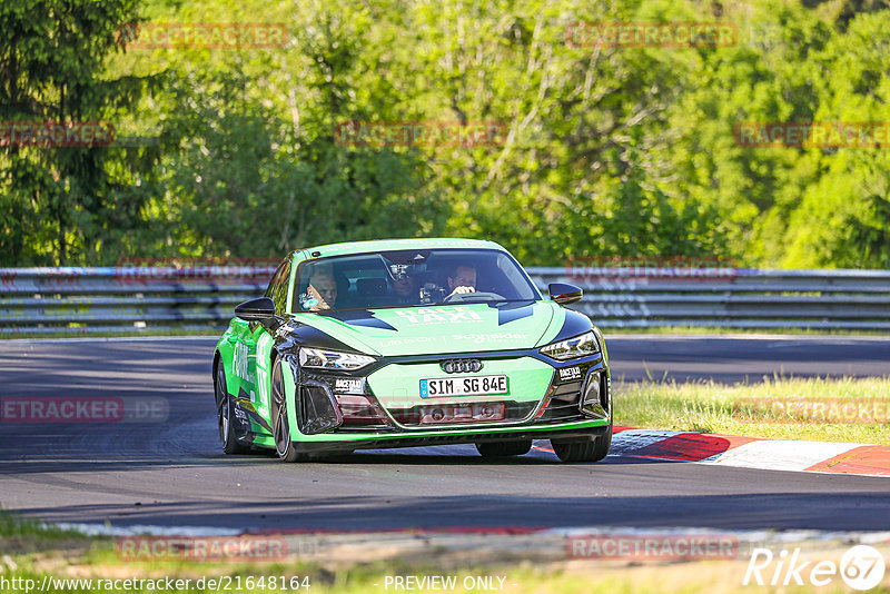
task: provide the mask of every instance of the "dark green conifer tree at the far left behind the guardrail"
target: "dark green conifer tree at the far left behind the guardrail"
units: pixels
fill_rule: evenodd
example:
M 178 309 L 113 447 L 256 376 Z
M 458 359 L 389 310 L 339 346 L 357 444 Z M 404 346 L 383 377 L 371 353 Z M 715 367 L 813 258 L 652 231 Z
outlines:
M 146 150 L 111 138 L 115 118 L 149 85 L 103 77 L 137 0 L 4 0 L 0 3 L 0 260 L 91 260 L 112 228 L 138 225 L 135 176 Z M 100 122 L 98 128 L 96 122 Z M 50 131 L 63 137 L 38 138 Z M 28 136 L 32 140 L 28 139 Z

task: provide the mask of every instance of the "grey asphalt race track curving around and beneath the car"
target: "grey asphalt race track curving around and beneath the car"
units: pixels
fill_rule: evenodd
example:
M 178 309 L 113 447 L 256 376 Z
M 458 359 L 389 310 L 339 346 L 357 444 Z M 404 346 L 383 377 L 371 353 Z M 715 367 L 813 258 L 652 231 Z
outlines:
M 0 422 L 0 505 L 49 521 L 243 529 L 694 526 L 890 529 L 890 481 L 473 446 L 285 465 L 219 452 L 208 338 L 0 341 L 0 396 L 165 402 L 166 423 Z M 678 380 L 884 375 L 890 338 L 613 337 L 613 373 Z

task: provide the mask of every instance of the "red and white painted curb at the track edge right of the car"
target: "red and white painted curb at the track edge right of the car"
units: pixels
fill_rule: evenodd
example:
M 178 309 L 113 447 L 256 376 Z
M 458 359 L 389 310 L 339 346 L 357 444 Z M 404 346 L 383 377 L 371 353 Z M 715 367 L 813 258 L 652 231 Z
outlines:
M 890 446 L 632 427 L 615 427 L 614 432 L 610 455 L 770 471 L 890 476 Z

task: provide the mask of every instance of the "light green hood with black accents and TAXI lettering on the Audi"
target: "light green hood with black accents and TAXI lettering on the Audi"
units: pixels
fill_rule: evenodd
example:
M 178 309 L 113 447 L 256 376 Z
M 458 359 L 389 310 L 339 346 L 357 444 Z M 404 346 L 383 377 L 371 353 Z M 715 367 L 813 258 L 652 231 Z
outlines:
M 553 301 L 296 314 L 350 347 L 378 356 L 533 348 L 556 336 L 565 310 Z

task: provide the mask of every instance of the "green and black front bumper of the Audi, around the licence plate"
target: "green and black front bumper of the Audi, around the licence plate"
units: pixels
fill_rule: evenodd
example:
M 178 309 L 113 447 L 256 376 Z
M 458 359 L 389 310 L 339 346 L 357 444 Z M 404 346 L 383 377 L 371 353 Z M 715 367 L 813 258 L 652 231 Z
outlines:
M 439 362 L 459 358 L 482 360 L 482 374 L 507 374 L 510 393 L 422 398 L 419 378 L 442 376 Z M 342 396 L 338 386 L 356 385 L 345 383 L 345 378 L 360 382 L 362 394 L 380 405 L 380 419 L 344 423 L 337 406 Z M 602 354 L 562 364 L 537 350 L 400 356 L 382 359 L 353 374 L 299 369 L 295 384 L 291 389 L 296 405 L 289 409 L 298 413 L 290 425 L 291 437 L 303 452 L 584 437 L 605 432 L 612 423 L 610 372 Z M 306 398 L 316 404 L 306 406 Z M 416 422 L 416 410 L 425 406 L 494 402 L 506 404 L 505 418 L 479 423 Z M 326 422 L 310 417 L 313 410 L 319 409 L 328 410 Z

